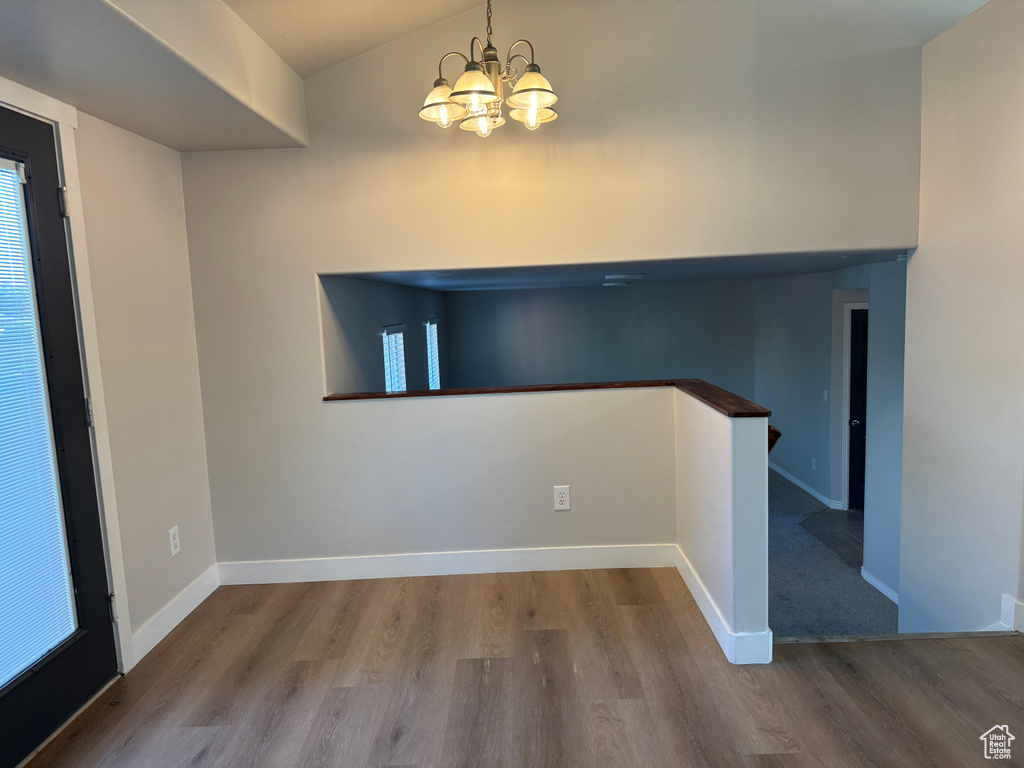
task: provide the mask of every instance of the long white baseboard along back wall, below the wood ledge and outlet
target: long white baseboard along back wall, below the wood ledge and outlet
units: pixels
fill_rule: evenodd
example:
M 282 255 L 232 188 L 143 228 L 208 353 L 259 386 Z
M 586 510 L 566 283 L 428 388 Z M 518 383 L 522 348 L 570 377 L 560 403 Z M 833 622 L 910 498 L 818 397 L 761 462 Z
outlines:
M 675 564 L 674 544 L 538 547 L 398 555 L 249 560 L 220 563 L 220 584 L 287 584 L 457 573 L 580 568 L 650 568 Z

